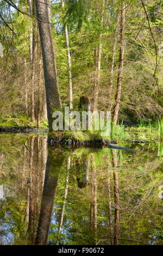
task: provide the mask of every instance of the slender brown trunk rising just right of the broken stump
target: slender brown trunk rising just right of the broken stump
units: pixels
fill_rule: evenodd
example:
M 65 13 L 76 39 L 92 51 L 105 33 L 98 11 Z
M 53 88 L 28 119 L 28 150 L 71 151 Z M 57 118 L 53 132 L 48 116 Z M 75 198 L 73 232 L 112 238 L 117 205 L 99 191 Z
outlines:
M 105 11 L 105 0 L 103 0 L 101 24 L 103 27 L 104 11 Z M 102 55 L 102 33 L 99 34 L 99 46 L 95 49 L 95 80 L 93 86 L 93 111 L 97 110 L 98 106 L 98 87 L 100 80 L 100 69 L 101 69 L 101 55 Z

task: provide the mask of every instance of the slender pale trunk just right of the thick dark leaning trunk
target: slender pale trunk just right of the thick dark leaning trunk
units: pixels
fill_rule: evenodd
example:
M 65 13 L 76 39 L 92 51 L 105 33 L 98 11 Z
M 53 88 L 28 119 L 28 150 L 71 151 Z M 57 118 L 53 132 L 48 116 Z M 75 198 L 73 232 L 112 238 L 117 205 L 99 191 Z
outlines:
M 64 11 L 65 3 L 64 0 L 61 0 L 62 9 Z M 68 59 L 68 82 L 69 82 L 69 98 L 70 98 L 70 109 L 73 108 L 72 105 L 72 72 L 71 72 L 71 54 L 70 54 L 70 44 L 68 39 L 68 28 L 65 25 L 65 38 L 66 38 L 66 46 L 67 46 L 67 59 Z

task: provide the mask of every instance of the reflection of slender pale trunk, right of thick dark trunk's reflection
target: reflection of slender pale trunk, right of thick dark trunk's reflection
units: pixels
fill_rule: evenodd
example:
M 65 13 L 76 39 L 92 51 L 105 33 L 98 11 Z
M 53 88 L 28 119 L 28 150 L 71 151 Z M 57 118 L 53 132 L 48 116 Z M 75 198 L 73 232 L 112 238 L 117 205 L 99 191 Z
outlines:
M 64 194 L 64 203 L 63 203 L 63 206 L 62 206 L 62 211 L 61 211 L 61 216 L 60 216 L 60 221 L 59 221 L 58 240 L 57 240 L 56 245 L 59 245 L 60 231 L 61 231 L 61 227 L 62 227 L 62 224 L 63 224 L 63 221 L 64 221 L 65 205 L 66 205 L 66 199 L 67 199 L 67 193 L 68 193 L 68 179 L 69 179 L 70 162 L 71 162 L 71 158 L 70 158 L 70 156 L 68 156 L 68 159 L 67 159 L 67 176 L 66 176 L 66 185 L 65 185 L 65 194 Z

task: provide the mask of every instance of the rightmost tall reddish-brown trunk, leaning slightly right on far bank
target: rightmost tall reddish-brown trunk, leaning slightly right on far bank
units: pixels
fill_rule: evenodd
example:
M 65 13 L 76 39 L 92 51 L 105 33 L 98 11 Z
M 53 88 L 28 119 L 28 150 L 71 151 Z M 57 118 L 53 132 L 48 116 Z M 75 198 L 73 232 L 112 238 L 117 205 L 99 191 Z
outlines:
M 113 124 L 117 124 L 118 112 L 120 110 L 122 78 L 123 78 L 123 62 L 124 62 L 124 24 L 125 24 L 125 1 L 122 1 L 121 7 L 121 37 L 120 37 L 120 57 L 117 77 L 117 91 L 115 96 L 115 107 L 113 112 Z

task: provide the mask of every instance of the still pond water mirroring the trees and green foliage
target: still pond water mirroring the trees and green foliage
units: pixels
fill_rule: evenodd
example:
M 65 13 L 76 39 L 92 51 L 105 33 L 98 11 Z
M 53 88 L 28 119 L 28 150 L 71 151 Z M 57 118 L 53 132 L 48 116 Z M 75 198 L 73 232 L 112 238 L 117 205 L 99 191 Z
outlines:
M 1 133 L 0 244 L 163 245 L 163 145 L 123 146 Z

